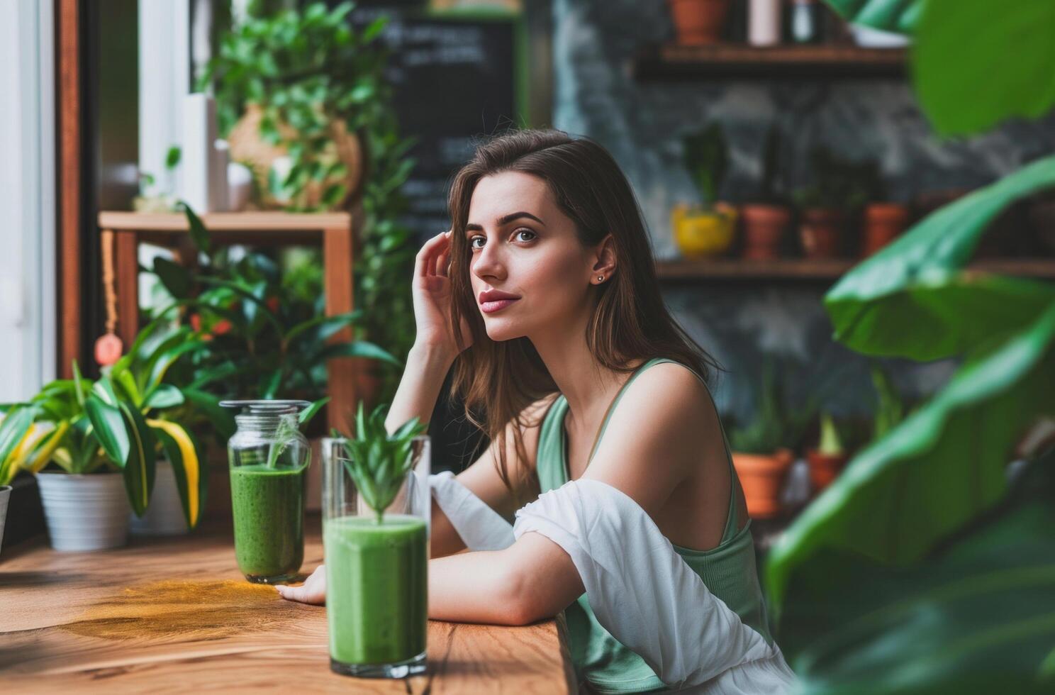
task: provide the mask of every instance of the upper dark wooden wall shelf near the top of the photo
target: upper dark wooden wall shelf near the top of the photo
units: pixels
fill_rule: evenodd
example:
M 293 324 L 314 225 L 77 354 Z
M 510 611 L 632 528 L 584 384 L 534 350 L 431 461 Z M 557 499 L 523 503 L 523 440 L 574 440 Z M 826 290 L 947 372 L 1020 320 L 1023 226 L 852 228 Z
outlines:
M 904 49 L 860 49 L 852 45 L 668 43 L 642 49 L 633 59 L 630 72 L 640 81 L 900 78 L 905 74 L 905 56 Z

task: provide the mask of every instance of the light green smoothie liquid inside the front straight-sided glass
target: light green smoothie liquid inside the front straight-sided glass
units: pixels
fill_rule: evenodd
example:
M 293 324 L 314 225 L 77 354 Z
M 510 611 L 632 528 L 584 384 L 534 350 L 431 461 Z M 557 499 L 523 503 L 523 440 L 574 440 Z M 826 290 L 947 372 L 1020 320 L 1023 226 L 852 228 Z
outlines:
M 385 515 L 324 524 L 330 657 L 398 663 L 425 651 L 428 548 L 424 520 Z

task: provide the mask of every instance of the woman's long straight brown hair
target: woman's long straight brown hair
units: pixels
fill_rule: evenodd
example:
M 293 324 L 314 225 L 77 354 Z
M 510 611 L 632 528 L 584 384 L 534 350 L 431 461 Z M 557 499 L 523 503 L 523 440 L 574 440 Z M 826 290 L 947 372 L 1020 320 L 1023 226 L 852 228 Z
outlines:
M 514 447 L 525 464 L 516 475 L 518 482 L 525 481 L 534 467 L 526 465 L 521 435 L 521 428 L 533 424 L 524 410 L 555 393 L 557 385 L 529 339 L 495 342 L 487 337 L 473 295 L 469 264 L 462 262 L 472 253 L 463 232 L 473 191 L 484 176 L 506 171 L 546 181 L 557 207 L 575 223 L 583 247 L 596 246 L 612 234 L 615 272 L 608 282 L 594 286 L 596 304 L 587 324 L 587 345 L 600 365 L 626 373 L 633 371 L 628 363 L 636 359 L 670 358 L 707 382 L 712 369 L 720 367 L 667 311 L 637 200 L 605 148 L 555 130 L 514 131 L 480 144 L 455 176 L 448 198 L 454 230 L 450 325 L 460 326 L 464 316 L 473 333 L 469 349 L 458 346 L 462 351 L 454 365 L 452 394 L 464 401 L 465 418 L 497 442 L 498 472 L 515 491 L 505 455 L 506 423 L 515 421 Z

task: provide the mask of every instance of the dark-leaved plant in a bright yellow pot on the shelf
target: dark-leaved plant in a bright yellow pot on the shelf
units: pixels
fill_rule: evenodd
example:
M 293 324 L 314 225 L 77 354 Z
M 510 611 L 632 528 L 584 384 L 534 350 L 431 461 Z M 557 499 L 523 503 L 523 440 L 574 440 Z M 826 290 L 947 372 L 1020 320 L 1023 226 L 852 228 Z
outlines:
M 684 138 L 684 161 L 703 204 L 674 206 L 674 240 L 687 257 L 713 256 L 732 244 L 736 210 L 718 202 L 718 191 L 729 168 L 729 146 L 718 123 Z

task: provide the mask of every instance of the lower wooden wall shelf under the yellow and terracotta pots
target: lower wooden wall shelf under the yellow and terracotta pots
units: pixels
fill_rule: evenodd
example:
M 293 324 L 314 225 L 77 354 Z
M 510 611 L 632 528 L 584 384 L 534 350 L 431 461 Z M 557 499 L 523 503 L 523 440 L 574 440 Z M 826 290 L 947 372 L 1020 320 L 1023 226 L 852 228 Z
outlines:
M 780 258 L 778 260 L 679 259 L 656 263 L 656 273 L 660 281 L 666 282 L 696 283 L 737 279 L 831 282 L 844 275 L 858 263 L 860 260 L 851 258 L 831 260 L 805 258 Z M 970 268 L 1005 275 L 1055 279 L 1055 258 L 986 258 L 971 264 Z

